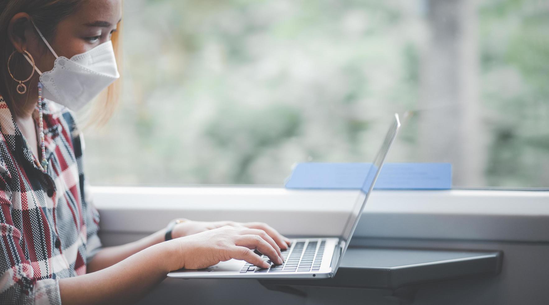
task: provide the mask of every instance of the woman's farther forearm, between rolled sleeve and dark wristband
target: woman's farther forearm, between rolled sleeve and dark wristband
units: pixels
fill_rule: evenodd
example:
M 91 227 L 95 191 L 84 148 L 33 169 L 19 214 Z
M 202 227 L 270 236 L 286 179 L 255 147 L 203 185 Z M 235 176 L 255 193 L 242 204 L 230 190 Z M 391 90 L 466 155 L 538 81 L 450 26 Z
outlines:
M 135 242 L 101 249 L 93 257 L 91 262 L 88 263 L 87 273 L 92 273 L 110 267 L 132 256 L 133 254 L 142 251 L 143 249 L 163 242 L 165 232 L 166 229 L 162 229 Z

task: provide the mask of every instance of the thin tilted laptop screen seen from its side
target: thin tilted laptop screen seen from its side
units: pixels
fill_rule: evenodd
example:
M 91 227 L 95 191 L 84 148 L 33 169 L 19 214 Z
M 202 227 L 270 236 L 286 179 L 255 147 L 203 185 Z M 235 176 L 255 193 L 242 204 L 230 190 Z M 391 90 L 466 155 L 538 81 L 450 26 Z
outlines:
M 365 181 L 362 184 L 362 188 L 359 192 L 358 198 L 356 199 L 356 202 L 352 208 L 352 212 L 349 215 L 349 218 L 345 224 L 345 228 L 343 229 L 343 233 L 341 234 L 341 239 L 345 241 L 345 246 L 343 248 L 343 251 L 341 252 L 341 257 L 343 257 L 343 254 L 345 253 L 345 250 L 349 245 L 351 236 L 355 231 L 356 225 L 358 224 L 358 219 L 360 219 L 360 215 L 362 214 L 362 211 L 366 206 L 366 201 L 369 197 L 369 194 L 372 192 L 374 184 L 376 183 L 376 179 L 383 166 L 385 157 L 389 153 L 389 148 L 391 147 L 391 144 L 393 144 L 393 141 L 395 140 L 396 134 L 399 131 L 399 129 L 400 129 L 399 115 L 395 113 L 393 122 L 391 123 L 391 126 L 389 127 L 389 130 L 385 135 L 382 146 L 379 148 L 376 158 L 373 160 L 372 166 L 368 169 L 368 174 L 366 175 Z M 341 259 L 339 259 L 339 262 L 341 262 Z M 337 268 L 339 267 L 339 262 L 337 264 L 337 267 L 335 268 L 336 271 L 337 271 Z

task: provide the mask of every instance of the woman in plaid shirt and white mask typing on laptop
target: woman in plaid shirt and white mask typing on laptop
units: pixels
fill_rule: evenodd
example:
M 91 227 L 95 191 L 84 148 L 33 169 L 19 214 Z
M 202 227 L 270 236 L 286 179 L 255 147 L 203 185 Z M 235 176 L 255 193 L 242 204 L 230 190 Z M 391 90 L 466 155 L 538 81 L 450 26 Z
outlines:
M 67 108 L 119 77 L 120 20 L 121 0 L 0 0 L 1 304 L 130 303 L 171 270 L 231 258 L 267 267 L 252 249 L 282 263 L 289 240 L 262 223 L 179 219 L 142 240 L 100 247 L 81 135 Z

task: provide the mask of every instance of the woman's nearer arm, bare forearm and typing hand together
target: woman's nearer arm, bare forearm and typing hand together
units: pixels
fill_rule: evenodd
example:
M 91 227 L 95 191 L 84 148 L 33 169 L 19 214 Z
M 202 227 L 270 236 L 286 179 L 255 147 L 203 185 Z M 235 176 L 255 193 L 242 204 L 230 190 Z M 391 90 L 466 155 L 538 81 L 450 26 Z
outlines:
M 159 238 L 155 235 L 160 233 L 145 237 L 137 245 L 144 246 L 147 241 L 152 243 Z M 61 302 L 133 303 L 162 281 L 169 271 L 201 269 L 229 259 L 245 260 L 261 268 L 270 267 L 253 249 L 264 253 L 273 263 L 283 263 L 281 249 L 264 230 L 223 226 L 156 243 L 110 267 L 74 278 L 60 279 Z

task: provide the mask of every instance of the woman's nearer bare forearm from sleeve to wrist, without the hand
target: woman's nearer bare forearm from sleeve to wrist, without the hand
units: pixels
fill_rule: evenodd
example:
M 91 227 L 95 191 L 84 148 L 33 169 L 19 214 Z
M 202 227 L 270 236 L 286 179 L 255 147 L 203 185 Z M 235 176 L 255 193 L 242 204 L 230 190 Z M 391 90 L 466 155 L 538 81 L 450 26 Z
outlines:
M 143 297 L 166 274 L 177 269 L 177 243 L 162 242 L 114 265 L 59 280 L 63 304 L 128 304 Z

